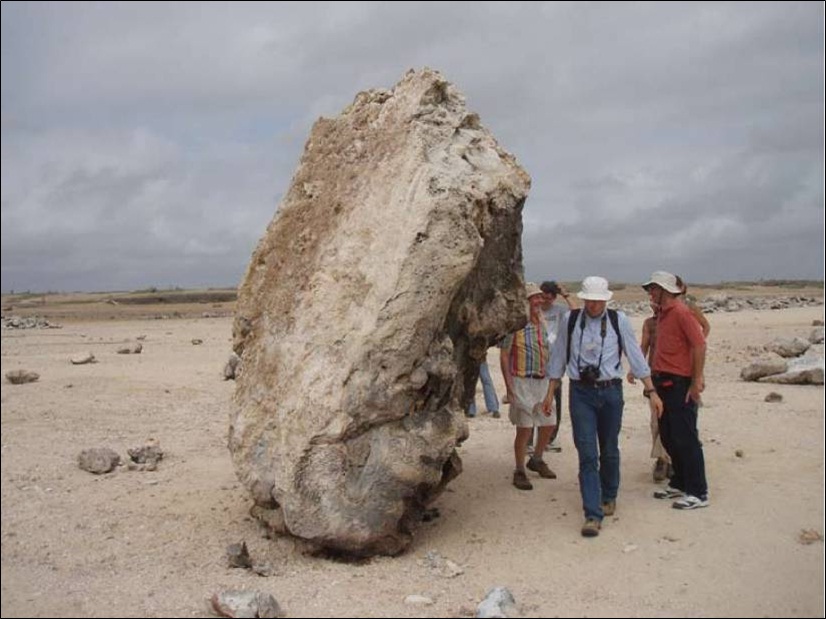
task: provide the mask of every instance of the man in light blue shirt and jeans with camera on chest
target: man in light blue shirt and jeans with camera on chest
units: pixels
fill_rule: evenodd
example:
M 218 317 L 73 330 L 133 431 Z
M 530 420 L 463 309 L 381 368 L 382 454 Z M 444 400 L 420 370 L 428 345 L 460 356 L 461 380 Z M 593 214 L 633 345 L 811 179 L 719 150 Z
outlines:
M 642 381 L 643 395 L 650 396 L 651 409 L 662 411 L 631 322 L 624 313 L 607 309 L 612 296 L 605 278 L 586 277 L 577 293 L 585 309 L 568 312 L 551 351 L 549 389 L 553 393 L 566 371 L 571 383 L 568 402 L 579 455 L 583 537 L 599 535 L 603 518 L 616 509 L 624 405 L 622 353 L 633 375 Z

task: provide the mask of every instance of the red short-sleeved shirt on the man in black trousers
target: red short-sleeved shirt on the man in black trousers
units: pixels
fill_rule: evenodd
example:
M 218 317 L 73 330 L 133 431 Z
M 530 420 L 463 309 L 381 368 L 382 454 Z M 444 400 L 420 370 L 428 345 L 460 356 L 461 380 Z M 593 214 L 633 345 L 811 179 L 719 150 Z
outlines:
M 654 348 L 656 372 L 691 377 L 691 349 L 705 344 L 700 323 L 683 303 L 661 308 Z

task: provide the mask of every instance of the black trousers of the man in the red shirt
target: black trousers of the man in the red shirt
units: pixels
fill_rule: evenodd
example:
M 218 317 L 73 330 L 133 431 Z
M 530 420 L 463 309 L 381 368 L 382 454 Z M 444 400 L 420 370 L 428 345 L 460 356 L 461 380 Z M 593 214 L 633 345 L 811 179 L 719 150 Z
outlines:
M 703 444 L 697 432 L 697 403 L 686 402 L 691 379 L 676 375 L 657 375 L 654 386 L 663 401 L 660 417 L 660 440 L 671 456 L 674 474 L 672 488 L 686 494 L 705 497 L 708 494 Z

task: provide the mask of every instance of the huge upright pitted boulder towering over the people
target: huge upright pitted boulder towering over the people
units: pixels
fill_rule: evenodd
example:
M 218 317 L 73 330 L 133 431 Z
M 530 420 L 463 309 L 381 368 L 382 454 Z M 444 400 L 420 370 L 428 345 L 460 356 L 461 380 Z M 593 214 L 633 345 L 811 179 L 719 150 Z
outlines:
M 239 289 L 229 447 L 259 518 L 395 554 L 461 471 L 463 405 L 526 320 L 530 178 L 435 71 L 319 119 Z

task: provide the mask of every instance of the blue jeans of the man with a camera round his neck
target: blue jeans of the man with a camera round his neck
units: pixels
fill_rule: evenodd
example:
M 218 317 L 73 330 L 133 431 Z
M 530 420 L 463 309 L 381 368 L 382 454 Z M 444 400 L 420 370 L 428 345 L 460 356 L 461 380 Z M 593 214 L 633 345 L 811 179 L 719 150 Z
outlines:
M 622 385 L 591 387 L 571 381 L 568 396 L 574 444 L 579 454 L 579 492 L 586 520 L 601 521 L 602 504 L 617 498 Z

